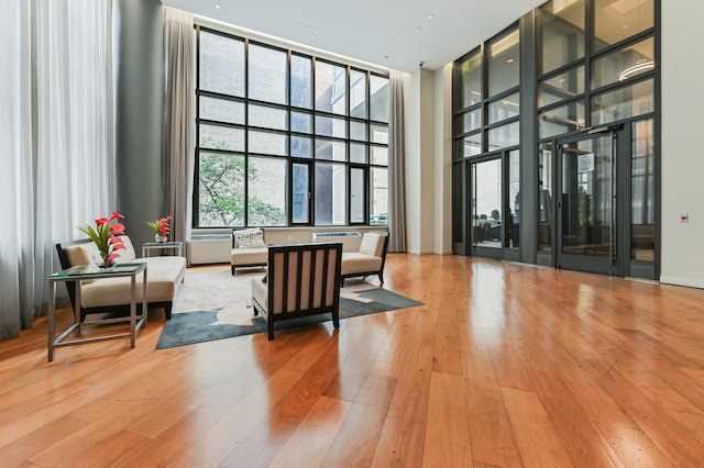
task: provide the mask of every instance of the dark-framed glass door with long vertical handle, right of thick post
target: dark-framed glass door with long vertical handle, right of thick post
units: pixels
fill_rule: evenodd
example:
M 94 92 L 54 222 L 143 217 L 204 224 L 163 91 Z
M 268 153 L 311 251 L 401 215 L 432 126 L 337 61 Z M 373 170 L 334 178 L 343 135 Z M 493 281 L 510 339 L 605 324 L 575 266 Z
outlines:
M 559 143 L 558 267 L 622 275 L 617 161 L 617 132 Z

